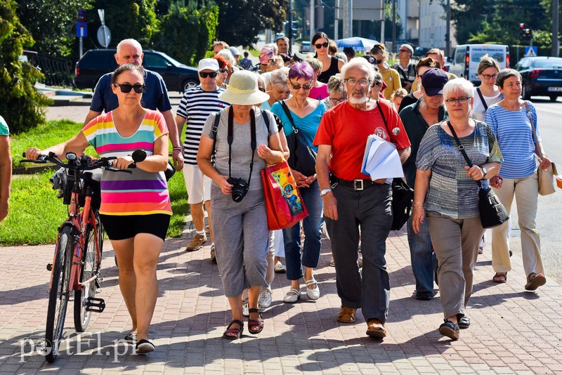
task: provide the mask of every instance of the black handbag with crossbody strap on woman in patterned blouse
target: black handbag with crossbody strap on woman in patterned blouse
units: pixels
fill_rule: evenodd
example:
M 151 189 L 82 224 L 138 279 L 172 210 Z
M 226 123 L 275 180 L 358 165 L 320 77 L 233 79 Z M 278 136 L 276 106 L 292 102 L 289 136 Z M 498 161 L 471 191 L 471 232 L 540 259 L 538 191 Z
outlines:
M 471 167 L 472 162 L 469 159 L 469 155 L 464 151 L 464 147 L 462 147 L 461 141 L 459 137 L 457 137 L 457 133 L 455 133 L 455 129 L 452 129 L 449 121 L 447 121 L 447 125 L 449 125 L 449 129 L 451 129 L 451 133 L 455 137 L 455 141 L 457 142 L 462 156 Z M 483 187 L 480 181 L 476 182 L 478 183 L 478 209 L 480 210 L 480 222 L 482 223 L 482 227 L 485 229 L 495 228 L 508 221 L 509 215 L 502 202 L 499 202 L 499 199 L 497 199 L 494 190 L 490 187 Z

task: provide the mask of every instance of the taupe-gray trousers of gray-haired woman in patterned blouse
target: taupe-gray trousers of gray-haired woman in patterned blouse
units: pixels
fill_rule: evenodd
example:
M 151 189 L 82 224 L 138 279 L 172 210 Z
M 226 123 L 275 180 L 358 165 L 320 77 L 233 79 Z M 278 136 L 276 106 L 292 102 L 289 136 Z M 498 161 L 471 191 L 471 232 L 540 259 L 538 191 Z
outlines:
M 472 294 L 478 245 L 484 234 L 480 217 L 452 219 L 427 214 L 429 234 L 439 261 L 437 278 L 443 317 L 464 316 Z

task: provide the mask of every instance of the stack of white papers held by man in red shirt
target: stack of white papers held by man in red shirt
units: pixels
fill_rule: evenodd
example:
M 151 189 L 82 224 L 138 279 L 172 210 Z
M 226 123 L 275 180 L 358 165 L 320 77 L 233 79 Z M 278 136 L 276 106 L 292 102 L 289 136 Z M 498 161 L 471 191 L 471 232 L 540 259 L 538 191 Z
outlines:
M 371 176 L 373 181 L 379 178 L 404 177 L 396 145 L 374 134 L 369 136 L 361 172 Z

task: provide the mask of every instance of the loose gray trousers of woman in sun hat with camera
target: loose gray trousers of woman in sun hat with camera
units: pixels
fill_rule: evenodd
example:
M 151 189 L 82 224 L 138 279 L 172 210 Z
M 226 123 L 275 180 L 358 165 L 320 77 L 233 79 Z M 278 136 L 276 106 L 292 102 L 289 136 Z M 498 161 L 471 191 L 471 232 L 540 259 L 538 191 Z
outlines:
M 263 190 L 249 191 L 236 203 L 213 185 L 211 221 L 224 294 L 234 297 L 249 287 L 267 287 L 269 231 Z

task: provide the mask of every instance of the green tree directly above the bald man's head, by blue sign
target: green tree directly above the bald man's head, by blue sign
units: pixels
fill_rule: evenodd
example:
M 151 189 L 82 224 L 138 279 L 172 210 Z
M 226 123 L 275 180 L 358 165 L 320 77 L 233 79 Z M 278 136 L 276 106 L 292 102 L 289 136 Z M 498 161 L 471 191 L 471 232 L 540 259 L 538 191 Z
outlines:
M 105 26 L 110 29 L 112 46 L 128 38 L 138 40 L 143 48 L 152 46 L 152 37 L 159 27 L 156 0 L 94 0 L 93 9 L 88 12 L 91 30 L 101 25 L 98 9 L 105 10 Z

